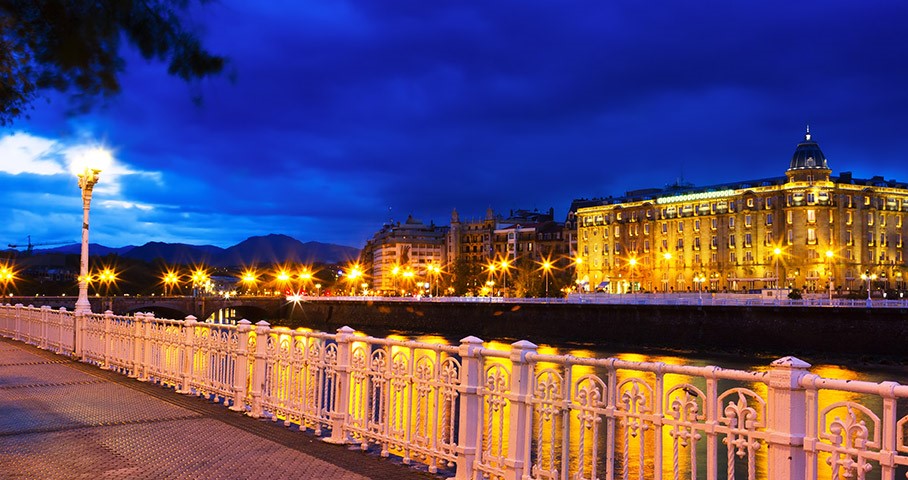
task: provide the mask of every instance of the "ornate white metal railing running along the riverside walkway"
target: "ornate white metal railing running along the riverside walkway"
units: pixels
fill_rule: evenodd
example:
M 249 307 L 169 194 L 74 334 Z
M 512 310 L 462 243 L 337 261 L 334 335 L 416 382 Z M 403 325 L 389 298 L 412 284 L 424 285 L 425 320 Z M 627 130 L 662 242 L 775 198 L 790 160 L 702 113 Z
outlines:
M 908 386 L 793 357 L 725 370 L 21 305 L 0 334 L 457 479 L 908 478 Z

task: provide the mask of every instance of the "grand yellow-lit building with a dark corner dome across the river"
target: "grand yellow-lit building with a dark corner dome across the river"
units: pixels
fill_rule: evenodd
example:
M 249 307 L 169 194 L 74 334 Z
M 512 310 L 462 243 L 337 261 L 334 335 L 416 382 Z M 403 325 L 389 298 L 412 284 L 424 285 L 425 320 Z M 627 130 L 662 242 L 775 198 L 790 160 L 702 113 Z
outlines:
M 908 184 L 833 176 L 809 128 L 784 176 L 575 205 L 581 290 L 906 286 Z

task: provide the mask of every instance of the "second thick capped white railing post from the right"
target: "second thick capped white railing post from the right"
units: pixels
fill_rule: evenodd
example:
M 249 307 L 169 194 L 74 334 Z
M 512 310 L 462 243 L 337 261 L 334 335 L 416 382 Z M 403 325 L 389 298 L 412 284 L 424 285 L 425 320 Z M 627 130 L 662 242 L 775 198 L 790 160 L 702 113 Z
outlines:
M 508 458 L 505 460 L 506 480 L 520 480 L 529 459 L 530 434 L 533 422 L 533 380 L 535 362 L 527 354 L 536 353 L 536 345 L 526 340 L 511 344 L 511 411 L 508 422 Z

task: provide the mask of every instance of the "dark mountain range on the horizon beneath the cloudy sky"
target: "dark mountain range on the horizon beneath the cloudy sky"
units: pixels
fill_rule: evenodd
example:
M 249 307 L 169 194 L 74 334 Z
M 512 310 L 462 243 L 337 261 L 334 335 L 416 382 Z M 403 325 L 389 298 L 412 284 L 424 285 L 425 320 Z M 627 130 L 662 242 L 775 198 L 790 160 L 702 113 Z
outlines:
M 34 254 L 80 253 L 81 245 L 74 243 L 49 249 L 35 249 Z M 201 263 L 213 267 L 264 265 L 275 263 L 345 263 L 359 257 L 359 249 L 321 242 L 301 242 L 287 235 L 271 234 L 249 237 L 228 248 L 214 245 L 187 245 L 184 243 L 148 242 L 142 246 L 119 248 L 92 243 L 91 255 L 115 254 L 147 262 L 161 259 L 171 264 Z

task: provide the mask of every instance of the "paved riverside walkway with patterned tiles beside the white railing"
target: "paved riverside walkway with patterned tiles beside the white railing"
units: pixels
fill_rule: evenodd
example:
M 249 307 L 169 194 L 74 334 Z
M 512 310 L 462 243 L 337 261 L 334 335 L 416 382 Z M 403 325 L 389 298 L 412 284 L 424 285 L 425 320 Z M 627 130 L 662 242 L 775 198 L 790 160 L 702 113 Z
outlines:
M 0 478 L 440 477 L 0 338 Z

